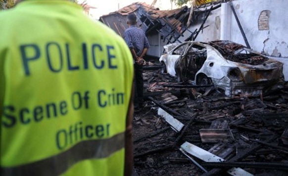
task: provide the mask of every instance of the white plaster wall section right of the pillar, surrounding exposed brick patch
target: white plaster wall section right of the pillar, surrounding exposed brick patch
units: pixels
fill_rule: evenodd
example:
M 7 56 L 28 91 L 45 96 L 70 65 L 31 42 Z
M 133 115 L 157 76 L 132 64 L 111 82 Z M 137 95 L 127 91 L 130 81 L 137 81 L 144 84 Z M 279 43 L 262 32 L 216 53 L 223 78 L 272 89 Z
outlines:
M 277 57 L 288 57 L 288 0 L 235 0 L 234 8 L 251 48 Z M 258 29 L 263 10 L 270 10 L 269 30 Z M 231 40 L 244 44 L 234 15 L 231 17 Z

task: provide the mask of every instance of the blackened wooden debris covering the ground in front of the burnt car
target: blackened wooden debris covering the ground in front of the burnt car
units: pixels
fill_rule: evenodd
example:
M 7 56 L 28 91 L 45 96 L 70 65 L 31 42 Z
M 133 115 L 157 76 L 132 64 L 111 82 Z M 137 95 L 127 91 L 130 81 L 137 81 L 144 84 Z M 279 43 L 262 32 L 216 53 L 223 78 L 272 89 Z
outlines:
M 221 47 L 221 46 L 219 46 Z M 228 175 L 239 167 L 252 175 L 287 175 L 288 87 L 262 97 L 227 97 L 209 87 L 177 83 L 150 61 L 144 71 L 145 107 L 135 113 L 135 170 L 145 175 Z M 255 60 L 257 62 L 257 59 Z M 157 108 L 184 124 L 180 132 L 157 114 Z M 180 146 L 190 142 L 222 163 L 185 155 Z M 277 174 L 278 173 L 278 174 Z

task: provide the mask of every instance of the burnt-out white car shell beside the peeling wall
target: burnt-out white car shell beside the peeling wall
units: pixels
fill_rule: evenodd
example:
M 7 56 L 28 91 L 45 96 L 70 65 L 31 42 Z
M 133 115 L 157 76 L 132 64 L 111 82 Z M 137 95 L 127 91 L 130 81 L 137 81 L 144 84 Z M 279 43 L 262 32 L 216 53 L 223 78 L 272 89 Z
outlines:
M 179 82 L 214 85 L 227 96 L 283 88 L 283 63 L 231 41 L 166 45 L 159 61 Z M 174 67 L 174 69 L 172 69 Z

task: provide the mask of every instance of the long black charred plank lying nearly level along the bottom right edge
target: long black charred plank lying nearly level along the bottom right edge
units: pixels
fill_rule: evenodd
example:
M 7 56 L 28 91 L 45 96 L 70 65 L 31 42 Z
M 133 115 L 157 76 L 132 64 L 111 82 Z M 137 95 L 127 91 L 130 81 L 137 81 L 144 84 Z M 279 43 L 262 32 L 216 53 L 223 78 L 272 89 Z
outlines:
M 245 167 L 245 168 L 260 168 L 260 169 L 276 169 L 276 170 L 288 170 L 288 164 L 286 163 L 260 163 L 260 162 L 205 162 L 202 166 L 211 166 L 219 168 L 233 168 L 233 167 Z

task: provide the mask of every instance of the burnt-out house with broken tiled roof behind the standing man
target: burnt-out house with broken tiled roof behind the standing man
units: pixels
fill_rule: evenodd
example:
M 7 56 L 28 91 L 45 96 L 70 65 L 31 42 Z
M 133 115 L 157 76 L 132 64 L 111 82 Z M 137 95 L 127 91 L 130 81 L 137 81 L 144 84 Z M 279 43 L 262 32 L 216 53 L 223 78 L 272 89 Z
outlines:
M 190 11 L 187 6 L 174 10 L 159 10 L 145 2 L 135 2 L 101 16 L 99 21 L 123 37 L 124 31 L 128 28 L 126 18 L 130 13 L 135 13 L 138 18 L 137 26 L 146 33 L 150 44 L 147 54 L 151 56 L 159 57 L 165 44 L 182 43 L 179 38 L 188 30 L 186 24 Z

